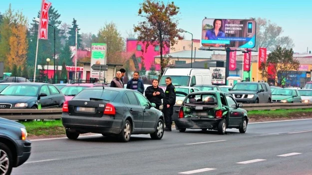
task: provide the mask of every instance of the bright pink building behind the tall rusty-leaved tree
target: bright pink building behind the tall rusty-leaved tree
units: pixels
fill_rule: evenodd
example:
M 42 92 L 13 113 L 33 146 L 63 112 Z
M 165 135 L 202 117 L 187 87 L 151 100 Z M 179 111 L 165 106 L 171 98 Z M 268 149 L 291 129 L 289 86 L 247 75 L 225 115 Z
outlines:
M 139 67 L 141 68 L 141 61 L 144 61 L 146 70 L 150 70 L 151 65 L 154 63 L 154 56 L 160 55 L 160 47 L 159 44 L 156 46 L 149 45 L 147 50 L 145 50 L 145 44 L 142 41 L 138 41 L 135 38 L 127 38 L 126 43 L 126 51 L 127 52 L 135 52 L 135 56 L 137 58 L 137 62 L 139 63 Z M 168 54 L 170 52 L 170 48 L 165 46 L 163 50 L 163 55 Z M 155 64 L 156 70 L 160 70 L 160 64 Z

